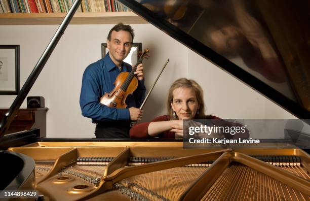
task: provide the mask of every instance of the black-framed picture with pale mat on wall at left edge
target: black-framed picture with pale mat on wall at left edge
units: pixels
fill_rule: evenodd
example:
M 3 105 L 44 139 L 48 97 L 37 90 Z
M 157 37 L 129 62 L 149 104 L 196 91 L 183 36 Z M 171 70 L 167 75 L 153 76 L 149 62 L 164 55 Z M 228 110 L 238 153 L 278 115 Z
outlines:
M 0 45 L 0 95 L 20 91 L 20 46 Z

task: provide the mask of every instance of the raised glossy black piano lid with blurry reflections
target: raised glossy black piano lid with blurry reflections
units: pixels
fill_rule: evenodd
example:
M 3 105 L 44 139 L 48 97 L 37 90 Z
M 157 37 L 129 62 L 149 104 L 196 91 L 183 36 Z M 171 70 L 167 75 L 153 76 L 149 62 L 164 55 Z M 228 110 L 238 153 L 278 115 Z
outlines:
M 296 117 L 310 118 L 308 1 L 119 2 Z

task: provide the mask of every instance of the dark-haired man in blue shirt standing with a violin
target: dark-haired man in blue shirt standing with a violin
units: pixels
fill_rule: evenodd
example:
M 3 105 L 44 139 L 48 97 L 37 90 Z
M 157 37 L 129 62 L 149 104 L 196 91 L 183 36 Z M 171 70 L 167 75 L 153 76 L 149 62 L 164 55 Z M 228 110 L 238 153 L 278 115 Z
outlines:
M 80 106 L 82 115 L 96 123 L 96 138 L 129 138 L 130 121 L 141 120 L 143 111 L 138 109 L 145 97 L 143 64 L 134 74 L 138 79 L 137 89 L 126 98 L 127 108 L 114 108 L 100 104 L 99 99 L 114 88 L 121 72 L 131 72 L 132 66 L 123 60 L 129 54 L 134 38 L 130 25 L 119 23 L 108 34 L 109 52 L 104 58 L 90 64 L 82 80 Z

